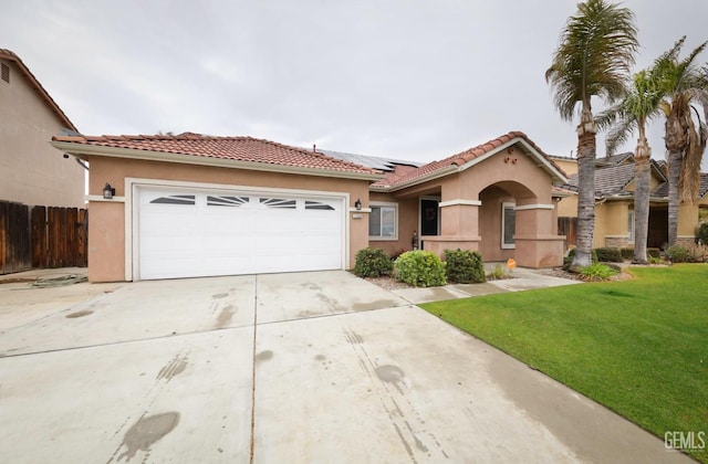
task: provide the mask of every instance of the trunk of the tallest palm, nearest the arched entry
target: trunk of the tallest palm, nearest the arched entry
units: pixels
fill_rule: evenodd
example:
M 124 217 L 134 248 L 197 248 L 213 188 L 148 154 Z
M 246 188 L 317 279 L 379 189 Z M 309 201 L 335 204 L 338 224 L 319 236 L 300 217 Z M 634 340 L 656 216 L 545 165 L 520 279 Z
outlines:
M 592 119 L 591 119 L 592 120 Z M 592 264 L 595 231 L 595 127 L 581 123 L 577 136 L 577 239 L 571 271 Z

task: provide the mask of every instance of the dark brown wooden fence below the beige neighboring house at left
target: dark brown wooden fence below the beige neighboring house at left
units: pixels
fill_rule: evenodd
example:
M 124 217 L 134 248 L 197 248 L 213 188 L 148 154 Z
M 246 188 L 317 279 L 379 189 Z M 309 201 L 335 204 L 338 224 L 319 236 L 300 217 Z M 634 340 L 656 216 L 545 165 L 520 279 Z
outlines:
M 87 265 L 87 212 L 0 201 L 0 274 Z

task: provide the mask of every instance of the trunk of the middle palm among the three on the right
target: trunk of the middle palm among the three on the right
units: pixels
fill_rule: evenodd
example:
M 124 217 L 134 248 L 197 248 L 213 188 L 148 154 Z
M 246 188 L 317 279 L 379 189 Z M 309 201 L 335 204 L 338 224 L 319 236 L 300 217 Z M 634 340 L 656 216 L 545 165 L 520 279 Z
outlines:
M 646 144 L 646 139 L 644 140 Z M 642 144 L 642 143 L 641 143 Z M 646 148 L 648 146 L 645 145 Z M 637 147 L 637 154 L 643 148 Z M 634 165 L 634 260 L 633 263 L 646 264 L 646 242 L 649 231 L 649 187 L 652 183 L 652 164 L 649 157 L 635 157 Z

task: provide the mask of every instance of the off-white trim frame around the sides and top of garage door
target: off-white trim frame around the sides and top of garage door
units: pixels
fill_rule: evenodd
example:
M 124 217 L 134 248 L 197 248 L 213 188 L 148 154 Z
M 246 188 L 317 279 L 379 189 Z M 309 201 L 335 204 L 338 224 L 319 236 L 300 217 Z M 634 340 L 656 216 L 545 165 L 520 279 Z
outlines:
M 342 226 L 343 226 L 343 242 L 342 242 L 342 263 L 344 268 L 350 268 L 350 221 L 352 218 L 350 217 L 351 212 L 363 212 L 362 210 L 356 209 L 347 209 L 350 204 L 350 193 L 348 192 L 333 192 L 325 190 L 301 190 L 301 189 L 279 189 L 272 187 L 251 187 L 251 186 L 233 186 L 233 184 L 223 184 L 223 183 L 208 183 L 208 182 L 190 182 L 190 181 L 180 181 L 180 180 L 164 180 L 164 179 L 142 179 L 142 178 L 125 178 L 125 280 L 126 282 L 134 281 L 134 276 L 136 275 L 136 263 L 133 260 L 133 255 L 137 253 L 137 250 L 134 250 L 133 238 L 137 231 L 137 213 L 138 208 L 133 208 L 134 205 L 134 191 L 139 187 L 156 187 L 156 188 L 183 188 L 183 189 L 196 189 L 196 190 L 223 190 L 223 191 L 239 191 L 239 192 L 249 192 L 249 193 L 271 193 L 271 192 L 287 192 L 295 196 L 308 196 L 308 197 L 327 197 L 327 198 L 341 198 L 345 208 L 343 208 L 342 212 Z M 103 197 L 98 197 L 103 201 L 105 200 Z M 114 197 L 115 198 L 115 197 Z

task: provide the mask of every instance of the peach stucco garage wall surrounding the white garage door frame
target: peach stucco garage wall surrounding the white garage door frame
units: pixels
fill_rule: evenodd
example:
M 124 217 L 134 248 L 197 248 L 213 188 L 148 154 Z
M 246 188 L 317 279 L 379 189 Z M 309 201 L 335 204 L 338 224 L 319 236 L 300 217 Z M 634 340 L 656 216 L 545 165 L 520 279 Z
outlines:
M 162 179 L 170 181 L 217 183 L 223 186 L 266 187 L 292 190 L 315 190 L 323 192 L 346 192 L 350 204 L 361 199 L 368 205 L 368 181 L 334 179 L 315 176 L 251 171 L 229 168 L 216 168 L 195 165 L 181 165 L 158 161 L 140 161 L 105 157 L 91 157 L 90 194 L 102 196 L 106 182 L 116 189 L 116 197 L 125 197 L 125 179 Z M 92 201 L 90 203 L 88 265 L 92 282 L 124 281 L 125 270 L 125 208 L 129 204 L 118 200 L 112 202 Z M 368 245 L 368 218 L 353 219 L 360 214 L 348 214 L 348 261 L 354 266 L 356 251 Z M 131 251 L 128 250 L 128 253 Z

